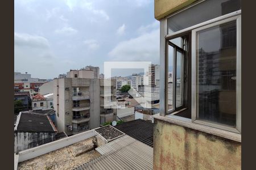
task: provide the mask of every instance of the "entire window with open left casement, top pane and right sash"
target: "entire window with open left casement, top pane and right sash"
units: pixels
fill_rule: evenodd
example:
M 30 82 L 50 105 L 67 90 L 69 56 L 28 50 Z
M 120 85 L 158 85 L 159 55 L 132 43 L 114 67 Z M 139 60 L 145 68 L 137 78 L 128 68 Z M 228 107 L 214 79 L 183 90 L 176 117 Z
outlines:
M 196 2 L 162 19 L 160 64 L 160 115 L 241 133 L 241 1 Z

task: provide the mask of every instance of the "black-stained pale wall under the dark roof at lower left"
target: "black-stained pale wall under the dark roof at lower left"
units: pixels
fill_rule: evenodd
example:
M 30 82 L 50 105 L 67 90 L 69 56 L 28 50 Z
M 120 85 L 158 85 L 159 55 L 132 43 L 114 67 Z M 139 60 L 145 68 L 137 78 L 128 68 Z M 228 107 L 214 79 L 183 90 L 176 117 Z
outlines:
M 27 150 L 28 148 L 36 147 L 55 141 L 55 133 L 40 132 L 14 132 L 14 152 Z

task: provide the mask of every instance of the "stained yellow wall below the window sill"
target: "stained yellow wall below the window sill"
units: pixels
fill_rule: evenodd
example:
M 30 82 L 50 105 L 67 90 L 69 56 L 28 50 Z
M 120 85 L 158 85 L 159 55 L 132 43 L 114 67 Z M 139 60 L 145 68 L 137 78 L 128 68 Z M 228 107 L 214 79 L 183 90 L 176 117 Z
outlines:
M 154 119 L 154 169 L 241 169 L 241 143 Z

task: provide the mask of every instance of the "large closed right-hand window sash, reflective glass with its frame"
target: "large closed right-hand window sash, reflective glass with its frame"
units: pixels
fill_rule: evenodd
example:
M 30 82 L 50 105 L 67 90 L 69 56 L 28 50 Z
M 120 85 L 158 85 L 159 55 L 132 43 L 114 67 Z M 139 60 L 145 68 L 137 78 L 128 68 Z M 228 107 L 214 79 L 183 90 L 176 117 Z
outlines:
M 237 29 L 238 28 L 238 29 Z M 241 16 L 205 25 L 192 31 L 193 50 L 193 121 L 237 132 L 241 131 Z

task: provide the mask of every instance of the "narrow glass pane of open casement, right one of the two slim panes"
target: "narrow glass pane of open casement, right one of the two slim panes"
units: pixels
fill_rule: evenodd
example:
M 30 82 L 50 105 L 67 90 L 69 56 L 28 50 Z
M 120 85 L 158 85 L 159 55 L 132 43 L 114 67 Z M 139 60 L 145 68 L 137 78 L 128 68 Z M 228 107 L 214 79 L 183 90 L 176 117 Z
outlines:
M 183 65 L 183 54 L 177 51 L 176 54 L 176 108 L 181 107 L 183 104 L 183 81 L 182 81 L 182 65 Z

